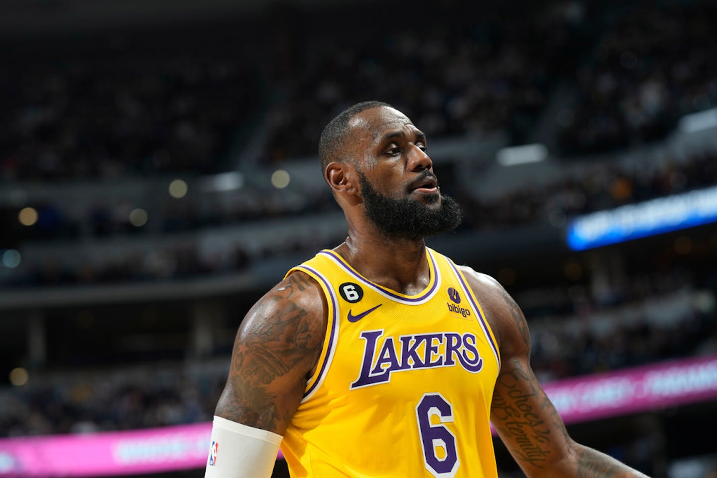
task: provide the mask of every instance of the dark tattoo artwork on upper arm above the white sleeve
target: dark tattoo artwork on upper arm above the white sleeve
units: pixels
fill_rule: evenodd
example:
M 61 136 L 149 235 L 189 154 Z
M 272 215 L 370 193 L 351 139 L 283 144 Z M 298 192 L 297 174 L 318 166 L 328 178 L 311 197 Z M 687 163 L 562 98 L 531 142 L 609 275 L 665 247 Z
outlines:
M 312 334 L 308 312 L 294 299 L 308 287 L 304 274 L 291 274 L 284 287 L 265 297 L 260 311 L 237 335 L 229 373 L 234 393 L 224 393 L 217 413 L 266 430 L 277 429 L 280 421 L 290 421 L 290 412 L 284 411 L 282 416 L 277 408 L 277 394 L 271 385 L 320 352 L 323 337 Z M 262 315 L 264 310 L 270 312 Z

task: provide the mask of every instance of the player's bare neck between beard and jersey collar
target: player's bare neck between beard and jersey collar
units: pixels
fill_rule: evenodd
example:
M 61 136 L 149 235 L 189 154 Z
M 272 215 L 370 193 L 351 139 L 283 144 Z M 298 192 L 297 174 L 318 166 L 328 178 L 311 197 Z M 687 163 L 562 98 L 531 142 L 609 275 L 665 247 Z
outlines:
M 402 294 L 417 295 L 430 282 L 423 239 L 386 238 L 378 231 L 349 229 L 336 252 L 366 279 Z

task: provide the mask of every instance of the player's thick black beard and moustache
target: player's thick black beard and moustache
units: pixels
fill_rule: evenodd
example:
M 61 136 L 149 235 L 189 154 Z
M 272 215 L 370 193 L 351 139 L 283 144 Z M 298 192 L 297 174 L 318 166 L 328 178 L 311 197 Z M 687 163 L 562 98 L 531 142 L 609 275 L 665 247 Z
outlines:
M 426 174 L 423 178 L 428 176 L 431 175 Z M 387 238 L 422 239 L 452 231 L 463 219 L 460 206 L 449 196 L 440 196 L 440 193 L 426 196 L 431 203 L 437 202 L 439 197 L 441 199 L 439 208 L 430 208 L 416 199 L 384 196 L 376 191 L 363 173 L 359 173 L 359 177 L 366 217 Z

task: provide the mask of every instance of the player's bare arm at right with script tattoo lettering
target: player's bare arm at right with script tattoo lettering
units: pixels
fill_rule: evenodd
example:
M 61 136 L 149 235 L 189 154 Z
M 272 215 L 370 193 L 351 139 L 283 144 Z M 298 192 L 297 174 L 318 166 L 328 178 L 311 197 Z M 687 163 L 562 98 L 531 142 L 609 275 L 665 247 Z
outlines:
M 530 365 L 531 338 L 520 307 L 495 279 L 463 267 L 500 349 L 490 421 L 530 478 L 645 477 L 600 451 L 577 444 Z

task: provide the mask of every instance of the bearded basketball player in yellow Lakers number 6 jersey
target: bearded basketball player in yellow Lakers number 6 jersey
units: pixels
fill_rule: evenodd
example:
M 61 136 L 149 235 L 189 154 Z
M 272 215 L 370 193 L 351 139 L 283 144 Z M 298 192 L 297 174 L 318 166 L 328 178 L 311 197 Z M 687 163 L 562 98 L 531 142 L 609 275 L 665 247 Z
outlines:
M 359 103 L 319 153 L 346 242 L 244 318 L 206 477 L 270 477 L 281 445 L 294 478 L 495 478 L 490 423 L 528 477 L 645 476 L 570 439 L 516 302 L 424 244 L 461 214 L 409 118 Z

